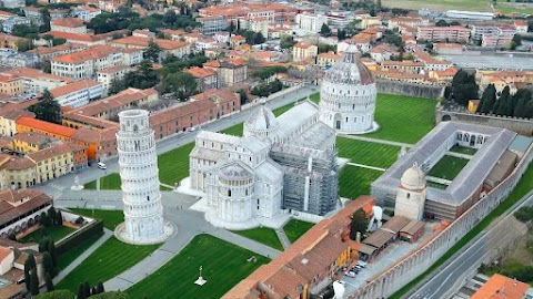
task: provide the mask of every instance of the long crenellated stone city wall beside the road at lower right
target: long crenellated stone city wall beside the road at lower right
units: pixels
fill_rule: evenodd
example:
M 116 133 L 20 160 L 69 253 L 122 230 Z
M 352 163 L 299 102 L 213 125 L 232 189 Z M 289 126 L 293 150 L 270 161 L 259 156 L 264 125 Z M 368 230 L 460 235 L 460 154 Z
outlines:
M 492 189 L 484 198 L 475 203 L 450 226 L 438 233 L 433 239 L 421 245 L 421 247 L 409 257 L 392 265 L 388 270 L 374 276 L 363 288 L 349 295 L 346 298 L 388 298 L 408 285 L 412 279 L 422 275 L 506 198 L 519 183 L 523 173 L 527 169 L 532 159 L 533 146 L 530 146 L 513 173 L 496 188 Z

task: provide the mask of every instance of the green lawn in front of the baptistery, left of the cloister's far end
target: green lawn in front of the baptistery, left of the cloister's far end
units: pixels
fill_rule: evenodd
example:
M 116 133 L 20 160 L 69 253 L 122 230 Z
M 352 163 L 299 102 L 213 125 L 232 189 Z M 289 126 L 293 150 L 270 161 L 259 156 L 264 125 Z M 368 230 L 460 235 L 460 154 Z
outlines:
M 400 152 L 399 146 L 344 137 L 336 138 L 336 150 L 340 157 L 350 158 L 353 163 L 382 168 L 390 167 Z

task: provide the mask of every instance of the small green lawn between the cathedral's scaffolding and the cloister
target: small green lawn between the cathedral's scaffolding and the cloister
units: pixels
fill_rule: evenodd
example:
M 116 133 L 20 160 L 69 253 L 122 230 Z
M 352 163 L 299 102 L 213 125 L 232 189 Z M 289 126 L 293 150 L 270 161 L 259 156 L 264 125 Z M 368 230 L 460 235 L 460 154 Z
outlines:
M 382 172 L 346 165 L 339 174 L 339 195 L 351 199 L 370 194 L 370 184 L 378 179 Z

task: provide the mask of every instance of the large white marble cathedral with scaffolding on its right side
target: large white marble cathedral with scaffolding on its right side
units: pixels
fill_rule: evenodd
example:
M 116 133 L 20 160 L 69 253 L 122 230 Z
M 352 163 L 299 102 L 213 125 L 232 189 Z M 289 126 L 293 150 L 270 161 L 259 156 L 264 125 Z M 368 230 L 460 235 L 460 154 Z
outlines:
M 208 219 L 227 228 L 325 215 L 339 204 L 338 179 L 335 131 L 310 101 L 279 117 L 261 105 L 242 137 L 202 131 L 190 155 L 191 187 L 205 194 Z

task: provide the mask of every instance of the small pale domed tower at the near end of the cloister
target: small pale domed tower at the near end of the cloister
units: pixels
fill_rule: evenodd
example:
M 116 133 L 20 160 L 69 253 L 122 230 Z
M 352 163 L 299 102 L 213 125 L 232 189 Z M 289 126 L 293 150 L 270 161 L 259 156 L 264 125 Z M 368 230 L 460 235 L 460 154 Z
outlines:
M 414 164 L 403 173 L 396 192 L 395 216 L 422 220 L 425 204 L 425 174 Z

